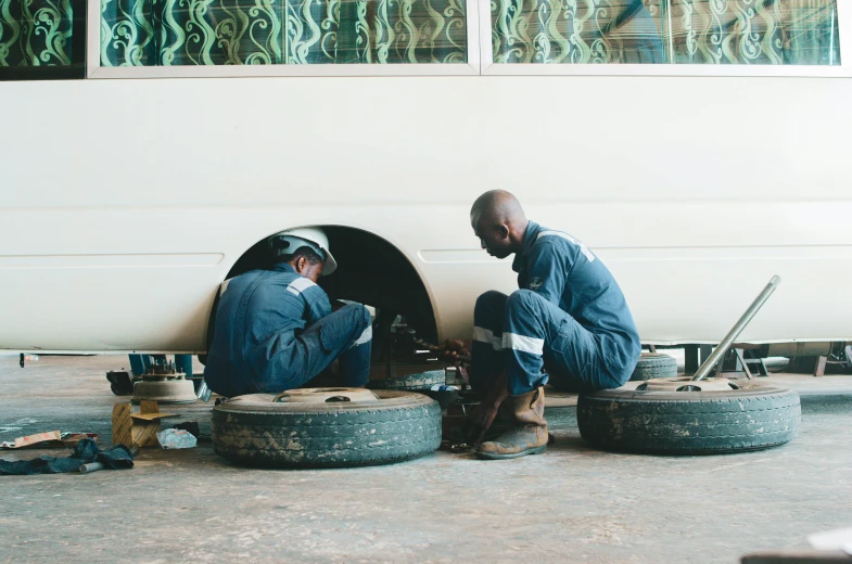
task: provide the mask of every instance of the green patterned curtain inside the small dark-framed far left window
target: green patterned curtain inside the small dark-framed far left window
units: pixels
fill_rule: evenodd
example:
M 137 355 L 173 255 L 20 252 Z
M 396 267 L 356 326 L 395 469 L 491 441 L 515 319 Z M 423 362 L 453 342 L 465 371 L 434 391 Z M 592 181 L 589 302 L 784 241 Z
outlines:
M 0 0 L 0 67 L 72 62 L 71 0 Z

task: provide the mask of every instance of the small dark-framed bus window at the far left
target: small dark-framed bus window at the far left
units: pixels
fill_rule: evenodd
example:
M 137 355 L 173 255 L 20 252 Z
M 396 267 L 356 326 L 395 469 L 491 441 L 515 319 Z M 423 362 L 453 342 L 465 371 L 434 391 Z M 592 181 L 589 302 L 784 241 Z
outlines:
M 86 0 L 0 0 L 0 80 L 84 78 Z

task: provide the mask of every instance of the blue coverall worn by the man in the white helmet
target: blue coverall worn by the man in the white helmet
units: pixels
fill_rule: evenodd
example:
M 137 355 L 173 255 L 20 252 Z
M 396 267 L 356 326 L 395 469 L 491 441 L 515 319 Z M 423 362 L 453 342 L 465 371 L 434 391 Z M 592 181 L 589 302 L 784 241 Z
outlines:
M 222 283 L 204 380 L 226 397 L 298 387 L 340 360 L 343 385 L 370 375 L 370 312 L 331 312 L 322 289 L 287 262 Z

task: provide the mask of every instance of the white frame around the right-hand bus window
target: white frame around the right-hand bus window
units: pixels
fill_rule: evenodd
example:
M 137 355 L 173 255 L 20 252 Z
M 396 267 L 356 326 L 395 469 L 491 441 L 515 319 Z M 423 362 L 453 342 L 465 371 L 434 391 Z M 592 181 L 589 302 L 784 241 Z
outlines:
M 495 63 L 489 0 L 480 0 L 481 74 L 484 76 L 852 77 L 852 2 L 837 0 L 840 65 L 533 64 Z

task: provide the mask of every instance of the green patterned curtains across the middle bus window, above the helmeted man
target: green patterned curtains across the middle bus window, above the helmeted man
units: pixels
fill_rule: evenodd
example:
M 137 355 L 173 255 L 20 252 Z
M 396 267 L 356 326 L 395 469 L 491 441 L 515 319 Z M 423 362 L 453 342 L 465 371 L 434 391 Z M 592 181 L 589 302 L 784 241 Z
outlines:
M 101 0 L 101 64 L 463 63 L 462 2 Z

